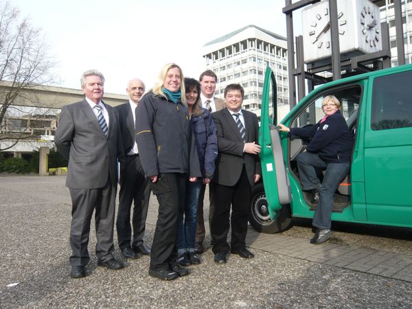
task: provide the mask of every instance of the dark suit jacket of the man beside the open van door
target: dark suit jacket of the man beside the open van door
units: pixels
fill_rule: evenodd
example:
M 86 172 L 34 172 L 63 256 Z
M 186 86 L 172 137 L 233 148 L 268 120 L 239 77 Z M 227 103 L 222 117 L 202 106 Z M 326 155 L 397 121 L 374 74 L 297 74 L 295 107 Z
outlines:
M 259 123 L 253 112 L 242 110 L 247 143 L 258 143 Z M 253 186 L 255 174 L 261 174 L 258 155 L 244 153 L 244 143 L 236 121 L 224 108 L 211 114 L 218 129 L 218 159 L 213 182 L 225 186 L 234 186 L 242 174 L 243 165 L 246 167 L 249 184 Z

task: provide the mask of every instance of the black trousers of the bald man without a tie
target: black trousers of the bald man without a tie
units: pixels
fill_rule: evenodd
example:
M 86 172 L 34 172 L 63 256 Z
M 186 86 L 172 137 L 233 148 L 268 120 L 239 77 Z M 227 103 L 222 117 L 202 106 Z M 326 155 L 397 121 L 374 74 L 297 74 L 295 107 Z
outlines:
M 119 208 L 117 210 L 117 240 L 120 249 L 143 243 L 148 217 L 150 186 L 139 156 L 127 156 L 120 164 Z M 133 239 L 130 212 L 133 203 Z

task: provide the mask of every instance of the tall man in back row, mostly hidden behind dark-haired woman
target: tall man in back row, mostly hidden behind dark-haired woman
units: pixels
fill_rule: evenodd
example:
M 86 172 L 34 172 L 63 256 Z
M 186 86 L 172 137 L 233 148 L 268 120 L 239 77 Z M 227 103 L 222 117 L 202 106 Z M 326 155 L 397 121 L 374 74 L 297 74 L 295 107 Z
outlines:
M 217 112 L 225 108 L 225 100 L 214 97 L 214 92 L 216 90 L 216 82 L 218 77 L 214 71 L 207 70 L 201 74 L 199 77 L 199 82 L 201 83 L 201 101 L 202 107 L 209 110 L 210 113 Z M 209 184 L 209 226 L 211 221 L 211 215 L 214 210 L 214 196 L 211 187 L 213 184 Z M 203 216 L 203 199 L 205 197 L 206 184 L 202 185 L 201 193 L 199 194 L 198 201 L 198 213 L 197 213 L 197 225 L 196 225 L 196 242 L 194 243 L 194 248 L 196 254 L 201 254 L 205 251 L 203 247 L 203 240 L 205 240 L 205 219 Z M 213 240 L 211 240 L 211 245 L 213 245 Z

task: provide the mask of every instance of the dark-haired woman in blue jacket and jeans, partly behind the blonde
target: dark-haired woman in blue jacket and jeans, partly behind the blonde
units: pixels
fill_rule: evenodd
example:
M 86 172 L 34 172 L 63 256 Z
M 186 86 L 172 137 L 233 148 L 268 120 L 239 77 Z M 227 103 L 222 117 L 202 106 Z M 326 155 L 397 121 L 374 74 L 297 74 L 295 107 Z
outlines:
M 198 197 L 202 183 L 209 184 L 213 178 L 215 160 L 218 156 L 216 127 L 211 114 L 202 108 L 200 103 L 201 85 L 196 79 L 185 78 L 185 89 L 190 123 L 203 177 L 197 182 L 187 182 L 186 186 L 184 219 L 181 214 L 177 234 L 177 261 L 181 266 L 201 263 L 201 259 L 194 252 Z

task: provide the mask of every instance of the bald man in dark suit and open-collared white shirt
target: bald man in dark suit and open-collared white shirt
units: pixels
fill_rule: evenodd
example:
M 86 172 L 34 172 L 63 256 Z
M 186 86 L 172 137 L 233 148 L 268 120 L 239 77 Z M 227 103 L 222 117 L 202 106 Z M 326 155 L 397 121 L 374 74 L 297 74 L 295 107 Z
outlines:
M 130 79 L 126 89 L 129 101 L 116 106 L 119 112 L 120 132 L 122 134 L 125 158 L 120 164 L 119 209 L 117 210 L 117 240 L 126 258 L 138 258 L 139 254 L 150 254 L 144 244 L 143 236 L 148 217 L 150 186 L 141 166 L 139 151 L 135 140 L 136 108 L 144 94 L 144 84 L 140 79 Z M 130 227 L 130 210 L 133 207 L 133 240 Z

